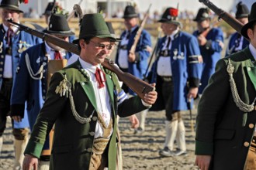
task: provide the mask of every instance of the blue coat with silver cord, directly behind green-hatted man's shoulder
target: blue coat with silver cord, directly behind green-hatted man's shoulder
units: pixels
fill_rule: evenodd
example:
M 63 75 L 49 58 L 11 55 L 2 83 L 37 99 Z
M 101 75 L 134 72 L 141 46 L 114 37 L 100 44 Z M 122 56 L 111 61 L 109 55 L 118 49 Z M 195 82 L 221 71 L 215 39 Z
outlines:
M 69 59 L 70 56 L 71 53 L 67 53 L 64 58 Z M 30 128 L 33 128 L 46 98 L 47 68 L 48 56 L 45 42 L 37 44 L 22 53 L 12 88 L 11 114 L 23 117 L 25 103 L 27 102 Z M 40 70 L 41 73 L 36 75 Z

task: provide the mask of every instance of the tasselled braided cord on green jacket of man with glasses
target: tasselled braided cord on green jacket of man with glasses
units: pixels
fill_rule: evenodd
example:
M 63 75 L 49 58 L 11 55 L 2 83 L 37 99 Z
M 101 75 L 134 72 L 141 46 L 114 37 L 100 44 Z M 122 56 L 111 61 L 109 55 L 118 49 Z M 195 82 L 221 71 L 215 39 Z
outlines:
M 74 106 L 74 99 L 71 93 L 71 83 L 67 81 L 67 76 L 65 75 L 64 80 L 61 81 L 59 86 L 57 86 L 55 93 L 60 93 L 61 97 L 69 97 L 71 103 L 71 110 L 74 118 L 81 124 L 89 123 L 92 119 L 92 115 L 94 114 L 95 110 L 93 110 L 92 114 L 89 117 L 81 117 L 77 110 L 75 110 Z

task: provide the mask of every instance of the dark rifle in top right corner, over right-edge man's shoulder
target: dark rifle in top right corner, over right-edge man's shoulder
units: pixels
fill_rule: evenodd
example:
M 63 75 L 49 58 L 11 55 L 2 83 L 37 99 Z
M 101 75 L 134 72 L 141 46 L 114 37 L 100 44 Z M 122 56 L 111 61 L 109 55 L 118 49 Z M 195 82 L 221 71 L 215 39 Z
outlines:
M 235 19 L 232 15 L 230 15 L 227 12 L 224 12 L 223 9 L 216 7 L 216 5 L 214 5 L 209 0 L 199 0 L 199 2 L 202 2 L 208 8 L 212 9 L 213 12 L 216 13 L 216 15 L 219 15 L 219 20 L 223 19 L 225 22 L 227 22 L 227 24 L 229 24 L 232 28 L 234 28 L 238 33 L 241 33 L 243 24 L 241 22 L 239 22 L 237 19 Z

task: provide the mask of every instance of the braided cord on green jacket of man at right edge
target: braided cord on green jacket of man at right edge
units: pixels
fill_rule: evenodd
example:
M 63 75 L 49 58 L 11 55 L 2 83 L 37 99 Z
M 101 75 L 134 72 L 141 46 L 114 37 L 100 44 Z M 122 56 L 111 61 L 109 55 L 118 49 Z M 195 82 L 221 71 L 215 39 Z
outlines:
M 256 98 L 254 99 L 252 104 L 245 104 L 239 97 L 239 94 L 237 92 L 237 86 L 233 78 L 234 66 L 230 62 L 230 59 L 228 59 L 228 63 L 227 63 L 227 73 L 230 75 L 231 93 L 237 107 L 239 107 L 239 109 L 244 112 L 251 112 L 252 110 L 254 110 L 254 101 L 256 100 Z

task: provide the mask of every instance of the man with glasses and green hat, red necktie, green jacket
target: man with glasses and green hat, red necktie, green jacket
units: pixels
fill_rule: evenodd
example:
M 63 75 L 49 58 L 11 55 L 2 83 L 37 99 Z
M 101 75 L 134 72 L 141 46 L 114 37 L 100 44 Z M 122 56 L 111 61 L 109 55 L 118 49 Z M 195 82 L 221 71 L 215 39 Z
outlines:
M 36 168 L 46 135 L 54 126 L 50 169 L 116 170 L 116 114 L 127 117 L 154 104 L 157 92 L 128 98 L 115 73 L 101 63 L 112 48 L 101 14 L 84 15 L 80 58 L 54 73 L 47 99 L 26 147 L 23 169 Z M 117 111 L 118 110 L 118 111 Z

